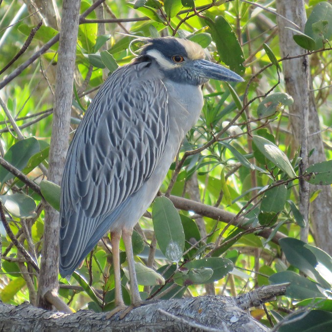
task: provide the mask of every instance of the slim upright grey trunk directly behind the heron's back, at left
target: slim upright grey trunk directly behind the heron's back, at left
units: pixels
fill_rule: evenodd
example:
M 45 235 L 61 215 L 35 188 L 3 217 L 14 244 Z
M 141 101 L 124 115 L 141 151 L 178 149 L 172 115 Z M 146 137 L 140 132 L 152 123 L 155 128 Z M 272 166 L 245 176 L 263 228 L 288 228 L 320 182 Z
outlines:
M 58 185 L 61 182 L 68 150 L 79 8 L 80 0 L 63 1 L 47 177 L 49 181 Z M 51 308 L 44 296 L 47 291 L 53 292 L 58 288 L 59 228 L 59 213 L 47 206 L 38 285 L 38 306 L 41 308 Z

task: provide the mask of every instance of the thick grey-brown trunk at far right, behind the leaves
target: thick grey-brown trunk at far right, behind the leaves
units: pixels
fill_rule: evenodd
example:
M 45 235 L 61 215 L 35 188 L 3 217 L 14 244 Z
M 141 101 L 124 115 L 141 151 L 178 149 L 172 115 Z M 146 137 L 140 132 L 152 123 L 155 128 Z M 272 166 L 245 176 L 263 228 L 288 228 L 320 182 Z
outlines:
M 307 21 L 304 0 L 277 0 L 277 12 L 288 20 L 294 22 L 304 30 Z M 285 28 L 293 27 L 283 18 L 277 17 L 279 25 L 279 38 L 281 55 L 299 55 L 306 51 L 293 40 L 294 32 Z M 323 142 L 320 134 L 320 125 L 315 108 L 315 102 L 310 91 L 310 72 L 308 56 L 283 61 L 286 92 L 294 98 L 294 104 L 289 107 L 290 122 L 294 138 L 301 144 L 302 167 L 304 171 L 308 164 L 325 160 Z M 308 152 L 314 149 L 310 159 Z M 311 186 L 305 182 L 300 183 L 300 209 L 306 222 L 308 221 L 309 189 L 322 190 L 319 196 L 311 203 L 311 221 L 315 230 L 317 245 L 332 254 L 332 192 L 328 186 Z M 302 234 L 302 240 L 307 241 L 308 233 Z

